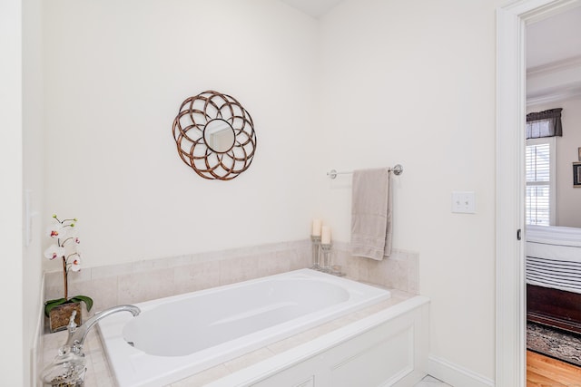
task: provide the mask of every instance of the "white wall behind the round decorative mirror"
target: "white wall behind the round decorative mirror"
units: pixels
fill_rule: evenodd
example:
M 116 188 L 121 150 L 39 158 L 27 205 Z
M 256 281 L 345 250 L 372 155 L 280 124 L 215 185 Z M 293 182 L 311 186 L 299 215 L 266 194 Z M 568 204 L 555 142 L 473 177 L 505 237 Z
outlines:
M 79 218 L 84 265 L 309 237 L 314 19 L 271 0 L 44 8 L 44 223 Z M 206 90 L 238 99 L 257 132 L 250 169 L 228 182 L 198 177 L 172 137 L 182 101 Z

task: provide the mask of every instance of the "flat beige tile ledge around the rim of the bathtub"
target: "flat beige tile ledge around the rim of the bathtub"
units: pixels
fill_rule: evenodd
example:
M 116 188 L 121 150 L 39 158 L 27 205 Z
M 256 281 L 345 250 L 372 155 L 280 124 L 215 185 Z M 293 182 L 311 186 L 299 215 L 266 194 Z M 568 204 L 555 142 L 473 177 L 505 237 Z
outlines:
M 315 337 L 319 337 L 322 334 L 328 334 L 342 326 L 359 321 L 371 314 L 376 314 L 379 311 L 397 305 L 414 296 L 413 294 L 401 290 L 390 289 L 390 291 L 391 298 L 379 304 L 370 305 L 364 309 L 330 321 L 329 323 L 321 324 L 308 331 L 295 334 L 287 339 L 271 343 L 257 351 L 246 353 L 240 357 L 232 359 L 231 361 L 196 373 L 180 382 L 173 382 L 165 387 L 196 387 L 203 386 L 209 382 L 214 382 L 232 372 L 240 371 L 242 368 L 248 367 L 254 363 L 259 363 L 275 354 L 288 351 L 302 343 L 309 342 Z M 113 373 L 107 363 L 103 346 L 98 335 L 98 330 L 92 329 L 87 335 L 87 339 L 84 343 L 84 353 L 87 360 L 87 372 L 85 374 L 84 387 L 111 387 L 115 385 Z M 55 334 L 44 334 L 43 367 L 53 361 L 57 349 L 66 342 L 66 337 L 66 331 Z

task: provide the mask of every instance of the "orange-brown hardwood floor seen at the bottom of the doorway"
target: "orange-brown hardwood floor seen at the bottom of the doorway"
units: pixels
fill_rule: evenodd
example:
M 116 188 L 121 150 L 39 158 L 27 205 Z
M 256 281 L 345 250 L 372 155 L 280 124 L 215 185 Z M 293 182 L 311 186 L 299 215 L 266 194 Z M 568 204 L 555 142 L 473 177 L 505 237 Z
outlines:
M 527 387 L 581 387 L 581 367 L 527 351 Z

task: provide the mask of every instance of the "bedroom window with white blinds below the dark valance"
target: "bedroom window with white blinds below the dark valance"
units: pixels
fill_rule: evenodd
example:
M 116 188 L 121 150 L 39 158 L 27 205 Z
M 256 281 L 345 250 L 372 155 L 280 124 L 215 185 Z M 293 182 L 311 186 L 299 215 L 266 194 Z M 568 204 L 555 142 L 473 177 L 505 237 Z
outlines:
M 555 137 L 527 140 L 527 225 L 555 224 Z

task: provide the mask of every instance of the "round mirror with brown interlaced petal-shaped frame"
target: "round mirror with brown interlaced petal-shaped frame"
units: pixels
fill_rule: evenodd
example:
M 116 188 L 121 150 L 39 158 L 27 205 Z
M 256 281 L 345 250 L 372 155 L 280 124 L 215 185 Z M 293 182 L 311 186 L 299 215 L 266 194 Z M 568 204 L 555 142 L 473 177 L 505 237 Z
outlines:
M 221 92 L 202 92 L 182 102 L 173 139 L 183 162 L 204 179 L 236 178 L 250 167 L 256 150 L 250 113 Z

